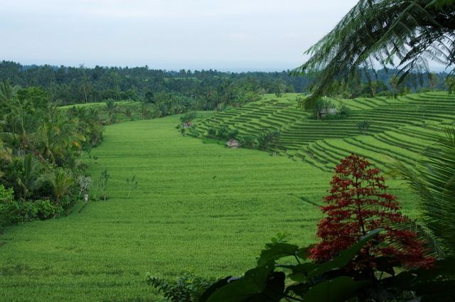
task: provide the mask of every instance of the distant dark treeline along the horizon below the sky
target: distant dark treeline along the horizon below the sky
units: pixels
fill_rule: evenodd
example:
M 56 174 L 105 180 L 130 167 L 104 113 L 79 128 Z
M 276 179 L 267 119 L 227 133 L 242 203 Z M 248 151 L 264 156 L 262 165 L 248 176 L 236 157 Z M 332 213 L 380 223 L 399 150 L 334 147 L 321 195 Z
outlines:
M 104 102 L 107 99 L 132 100 L 159 103 L 164 100 L 191 109 L 215 109 L 219 104 L 242 104 L 257 99 L 257 95 L 287 92 L 309 93 L 311 77 L 289 75 L 282 72 L 220 72 L 218 70 L 151 70 L 147 66 L 137 68 L 100 67 L 86 68 L 51 65 L 21 65 L 11 61 L 0 63 L 0 79 L 22 88 L 42 86 L 50 94 L 51 101 L 61 104 Z M 379 81 L 382 90 L 390 90 L 390 79 L 398 70 L 378 70 L 377 77 L 370 72 L 373 81 Z M 444 90 L 446 74 L 437 74 L 436 85 L 430 85 L 428 77 L 412 90 L 422 88 Z M 365 76 L 354 78 L 334 89 L 330 94 L 343 97 L 373 97 Z M 407 85 L 406 83 L 404 83 Z M 341 91 L 342 90 L 342 91 Z

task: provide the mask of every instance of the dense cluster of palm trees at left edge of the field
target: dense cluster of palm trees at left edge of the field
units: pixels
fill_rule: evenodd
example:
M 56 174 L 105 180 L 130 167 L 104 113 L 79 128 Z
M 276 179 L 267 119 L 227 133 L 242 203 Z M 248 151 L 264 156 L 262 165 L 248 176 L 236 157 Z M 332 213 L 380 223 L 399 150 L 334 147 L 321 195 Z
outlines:
M 82 173 L 82 151 L 102 140 L 101 114 L 83 107 L 67 112 L 51 102 L 40 107 L 14 94 L 2 101 L 0 185 L 13 188 L 15 200 L 1 200 L 14 207 L 0 215 L 31 220 L 28 210 L 34 215 L 40 211 L 36 200 L 48 200 L 55 215 L 70 204 L 68 193 Z

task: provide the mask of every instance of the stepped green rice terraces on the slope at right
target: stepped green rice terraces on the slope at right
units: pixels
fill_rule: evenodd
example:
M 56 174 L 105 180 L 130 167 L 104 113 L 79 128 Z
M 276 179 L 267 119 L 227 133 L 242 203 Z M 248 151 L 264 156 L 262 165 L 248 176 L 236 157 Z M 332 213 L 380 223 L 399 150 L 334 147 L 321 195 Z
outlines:
M 206 131 L 228 126 L 241 134 L 281 131 L 278 147 L 282 155 L 323 171 L 331 171 L 341 157 L 352 152 L 385 170 L 391 159 L 413 165 L 437 132 L 455 120 L 455 96 L 446 92 L 342 100 L 352 111 L 348 119 L 341 120 L 309 119 L 309 114 L 296 108 L 294 99 L 294 95 L 283 99 L 268 95 L 262 102 L 215 114 L 199 127 Z M 365 119 L 371 126 L 363 136 L 356 124 Z

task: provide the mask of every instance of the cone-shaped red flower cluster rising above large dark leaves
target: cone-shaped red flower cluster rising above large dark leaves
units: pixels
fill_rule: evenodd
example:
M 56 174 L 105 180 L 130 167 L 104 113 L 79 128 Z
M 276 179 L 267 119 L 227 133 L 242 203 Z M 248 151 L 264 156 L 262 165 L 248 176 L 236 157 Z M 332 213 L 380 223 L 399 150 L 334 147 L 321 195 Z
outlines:
M 330 260 L 368 232 L 382 228 L 384 231 L 358 252 L 353 260 L 355 269 L 375 266 L 380 256 L 397 259 L 403 266 L 430 266 L 434 259 L 425 257 L 416 234 L 397 229 L 409 219 L 400 213 L 397 198 L 387 193 L 380 171 L 371 166 L 354 154 L 336 166 L 330 195 L 323 198 L 328 203 L 322 207 L 326 217 L 318 224 L 317 235 L 322 241 L 310 250 L 311 258 Z

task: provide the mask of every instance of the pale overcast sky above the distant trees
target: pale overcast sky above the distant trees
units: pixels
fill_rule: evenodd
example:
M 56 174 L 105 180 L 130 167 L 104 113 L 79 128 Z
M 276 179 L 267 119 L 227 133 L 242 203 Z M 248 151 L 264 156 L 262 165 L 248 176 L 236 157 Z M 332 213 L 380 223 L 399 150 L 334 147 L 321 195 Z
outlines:
M 304 63 L 356 0 L 10 0 L 0 60 L 22 65 L 148 65 L 287 70 Z

